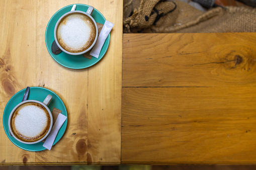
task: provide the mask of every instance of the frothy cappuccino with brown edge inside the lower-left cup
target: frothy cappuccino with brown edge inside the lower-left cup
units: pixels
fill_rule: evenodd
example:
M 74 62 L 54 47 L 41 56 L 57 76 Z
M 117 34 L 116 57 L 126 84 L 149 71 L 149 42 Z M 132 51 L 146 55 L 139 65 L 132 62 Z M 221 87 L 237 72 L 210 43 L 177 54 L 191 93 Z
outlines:
M 25 142 L 35 142 L 48 132 L 51 118 L 47 109 L 35 102 L 20 105 L 11 118 L 11 130 L 14 135 Z

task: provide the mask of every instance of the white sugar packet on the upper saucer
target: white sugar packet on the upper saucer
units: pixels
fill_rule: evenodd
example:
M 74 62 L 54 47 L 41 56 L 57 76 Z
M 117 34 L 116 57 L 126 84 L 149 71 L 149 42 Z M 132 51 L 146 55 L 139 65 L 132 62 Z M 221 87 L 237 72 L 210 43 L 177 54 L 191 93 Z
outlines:
M 102 47 L 103 47 L 103 45 L 104 45 L 104 43 L 105 43 L 105 41 L 106 41 L 110 31 L 112 30 L 113 26 L 114 26 L 113 23 L 111 23 L 109 21 L 105 21 L 104 26 L 103 26 L 103 28 L 101 30 L 101 33 L 100 33 L 100 35 L 98 37 L 98 40 L 95 43 L 95 45 L 94 45 L 90 55 L 92 55 L 92 56 L 94 56 L 96 58 L 99 57 L 101 49 L 102 49 Z

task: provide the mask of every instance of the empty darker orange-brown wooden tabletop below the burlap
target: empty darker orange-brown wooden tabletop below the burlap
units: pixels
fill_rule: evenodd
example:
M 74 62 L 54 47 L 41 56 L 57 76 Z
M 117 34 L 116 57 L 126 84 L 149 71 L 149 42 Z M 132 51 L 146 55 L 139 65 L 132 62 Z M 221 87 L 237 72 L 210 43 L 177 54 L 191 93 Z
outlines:
M 255 40 L 124 34 L 122 163 L 255 163 Z

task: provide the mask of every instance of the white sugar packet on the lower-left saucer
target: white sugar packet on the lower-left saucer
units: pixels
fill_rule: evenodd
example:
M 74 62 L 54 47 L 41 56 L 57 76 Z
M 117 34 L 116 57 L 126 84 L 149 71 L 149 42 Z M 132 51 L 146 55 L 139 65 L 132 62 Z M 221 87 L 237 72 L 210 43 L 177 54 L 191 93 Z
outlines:
M 47 136 L 43 144 L 43 146 L 48 150 L 51 150 L 53 142 L 58 134 L 58 131 L 66 119 L 67 119 L 67 116 L 64 116 L 63 114 L 59 113 L 54 125 L 52 126 L 51 132 L 49 133 L 49 135 Z

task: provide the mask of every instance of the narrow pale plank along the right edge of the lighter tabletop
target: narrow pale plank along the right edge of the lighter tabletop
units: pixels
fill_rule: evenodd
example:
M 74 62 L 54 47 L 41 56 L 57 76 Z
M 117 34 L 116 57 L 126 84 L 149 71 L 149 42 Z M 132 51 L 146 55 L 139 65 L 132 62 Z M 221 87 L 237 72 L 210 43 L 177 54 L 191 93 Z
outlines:
M 102 1 L 97 6 L 102 10 L 109 8 L 105 17 L 115 26 L 110 33 L 107 57 L 89 68 L 88 152 L 93 162 L 118 164 L 121 162 L 123 1 Z

